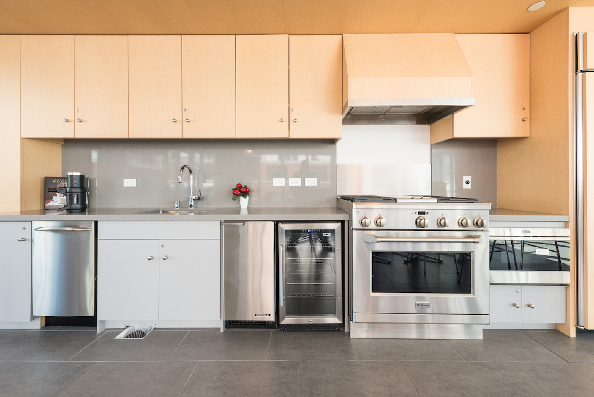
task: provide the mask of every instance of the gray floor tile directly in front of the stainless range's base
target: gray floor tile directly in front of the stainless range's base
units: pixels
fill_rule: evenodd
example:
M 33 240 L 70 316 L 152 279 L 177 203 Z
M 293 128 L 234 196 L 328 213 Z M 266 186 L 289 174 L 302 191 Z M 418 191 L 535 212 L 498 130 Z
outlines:
M 448 342 L 434 339 L 359 339 L 365 360 L 464 361 Z

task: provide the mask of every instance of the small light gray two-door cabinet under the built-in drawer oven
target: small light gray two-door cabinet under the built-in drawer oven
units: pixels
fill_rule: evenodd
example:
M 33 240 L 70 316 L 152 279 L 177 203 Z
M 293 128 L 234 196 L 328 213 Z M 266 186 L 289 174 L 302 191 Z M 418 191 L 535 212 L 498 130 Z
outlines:
M 565 292 L 557 285 L 491 285 L 491 323 L 565 323 Z

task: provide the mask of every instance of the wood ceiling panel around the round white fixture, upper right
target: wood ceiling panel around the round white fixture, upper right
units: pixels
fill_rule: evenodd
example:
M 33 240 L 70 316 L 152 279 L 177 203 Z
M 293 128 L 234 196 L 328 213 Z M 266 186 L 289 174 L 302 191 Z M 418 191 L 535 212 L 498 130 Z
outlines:
M 431 0 L 410 33 L 529 33 L 576 0 L 546 0 L 528 11 L 536 1 Z

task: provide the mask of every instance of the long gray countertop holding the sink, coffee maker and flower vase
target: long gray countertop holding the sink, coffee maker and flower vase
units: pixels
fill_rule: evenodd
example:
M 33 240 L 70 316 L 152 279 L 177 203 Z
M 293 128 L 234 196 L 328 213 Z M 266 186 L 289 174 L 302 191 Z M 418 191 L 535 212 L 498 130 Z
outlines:
M 196 208 L 198 215 L 154 213 L 158 208 L 89 208 L 86 213 L 30 210 L 0 213 L 2 220 L 347 220 L 349 214 L 336 207 L 236 207 Z M 187 209 L 186 209 L 187 210 Z M 151 213 L 153 212 L 153 213 Z

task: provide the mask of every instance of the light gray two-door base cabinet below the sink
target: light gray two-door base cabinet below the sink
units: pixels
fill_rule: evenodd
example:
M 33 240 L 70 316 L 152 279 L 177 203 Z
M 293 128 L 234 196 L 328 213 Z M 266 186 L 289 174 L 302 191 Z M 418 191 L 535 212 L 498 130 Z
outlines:
M 220 320 L 219 222 L 119 223 L 97 226 L 98 320 Z

